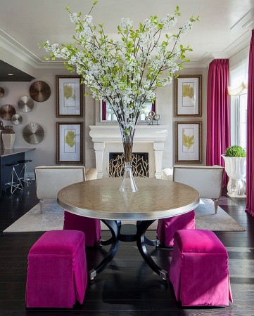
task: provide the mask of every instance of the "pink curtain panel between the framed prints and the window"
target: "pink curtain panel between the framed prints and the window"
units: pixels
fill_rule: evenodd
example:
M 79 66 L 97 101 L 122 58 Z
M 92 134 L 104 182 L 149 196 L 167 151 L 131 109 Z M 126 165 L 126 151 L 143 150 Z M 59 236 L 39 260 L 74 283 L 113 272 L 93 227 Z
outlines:
M 215 59 L 208 70 L 206 164 L 224 166 L 221 154 L 230 146 L 229 60 Z M 222 185 L 227 186 L 224 172 Z

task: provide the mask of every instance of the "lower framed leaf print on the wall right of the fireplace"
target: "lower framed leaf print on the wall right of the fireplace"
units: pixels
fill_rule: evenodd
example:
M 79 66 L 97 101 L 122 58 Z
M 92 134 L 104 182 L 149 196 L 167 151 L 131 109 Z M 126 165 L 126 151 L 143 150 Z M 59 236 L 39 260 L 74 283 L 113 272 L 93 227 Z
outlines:
M 175 122 L 175 162 L 177 164 L 202 163 L 202 122 Z

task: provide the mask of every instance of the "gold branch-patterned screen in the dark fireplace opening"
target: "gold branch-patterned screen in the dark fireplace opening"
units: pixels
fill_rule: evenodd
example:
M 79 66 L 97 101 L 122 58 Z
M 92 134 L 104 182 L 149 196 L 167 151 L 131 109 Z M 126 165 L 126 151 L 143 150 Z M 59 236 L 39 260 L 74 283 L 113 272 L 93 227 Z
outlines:
M 125 169 L 125 154 L 121 152 L 110 152 L 108 176 L 111 178 L 123 176 Z M 132 172 L 134 177 L 148 178 L 148 152 L 132 153 Z

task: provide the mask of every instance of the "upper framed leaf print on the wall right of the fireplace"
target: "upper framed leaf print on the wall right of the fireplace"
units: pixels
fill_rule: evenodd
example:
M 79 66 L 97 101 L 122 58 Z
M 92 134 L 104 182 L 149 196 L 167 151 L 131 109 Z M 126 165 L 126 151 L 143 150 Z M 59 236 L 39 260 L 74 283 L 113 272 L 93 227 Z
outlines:
M 202 75 L 183 75 L 174 79 L 174 116 L 202 116 Z

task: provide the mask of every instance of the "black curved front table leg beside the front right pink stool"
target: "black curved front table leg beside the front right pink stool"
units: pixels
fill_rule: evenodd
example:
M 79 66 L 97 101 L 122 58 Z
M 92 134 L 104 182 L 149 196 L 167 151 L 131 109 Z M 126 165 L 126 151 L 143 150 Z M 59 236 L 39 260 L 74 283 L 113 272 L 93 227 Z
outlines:
M 141 220 L 139 225 L 137 225 L 136 230 L 136 246 L 139 249 L 141 256 L 144 258 L 144 261 L 149 265 L 149 267 L 163 280 L 167 279 L 167 271 L 161 269 L 151 258 L 150 254 L 146 249 L 146 237 L 145 233 L 147 228 L 154 222 L 155 220 Z

